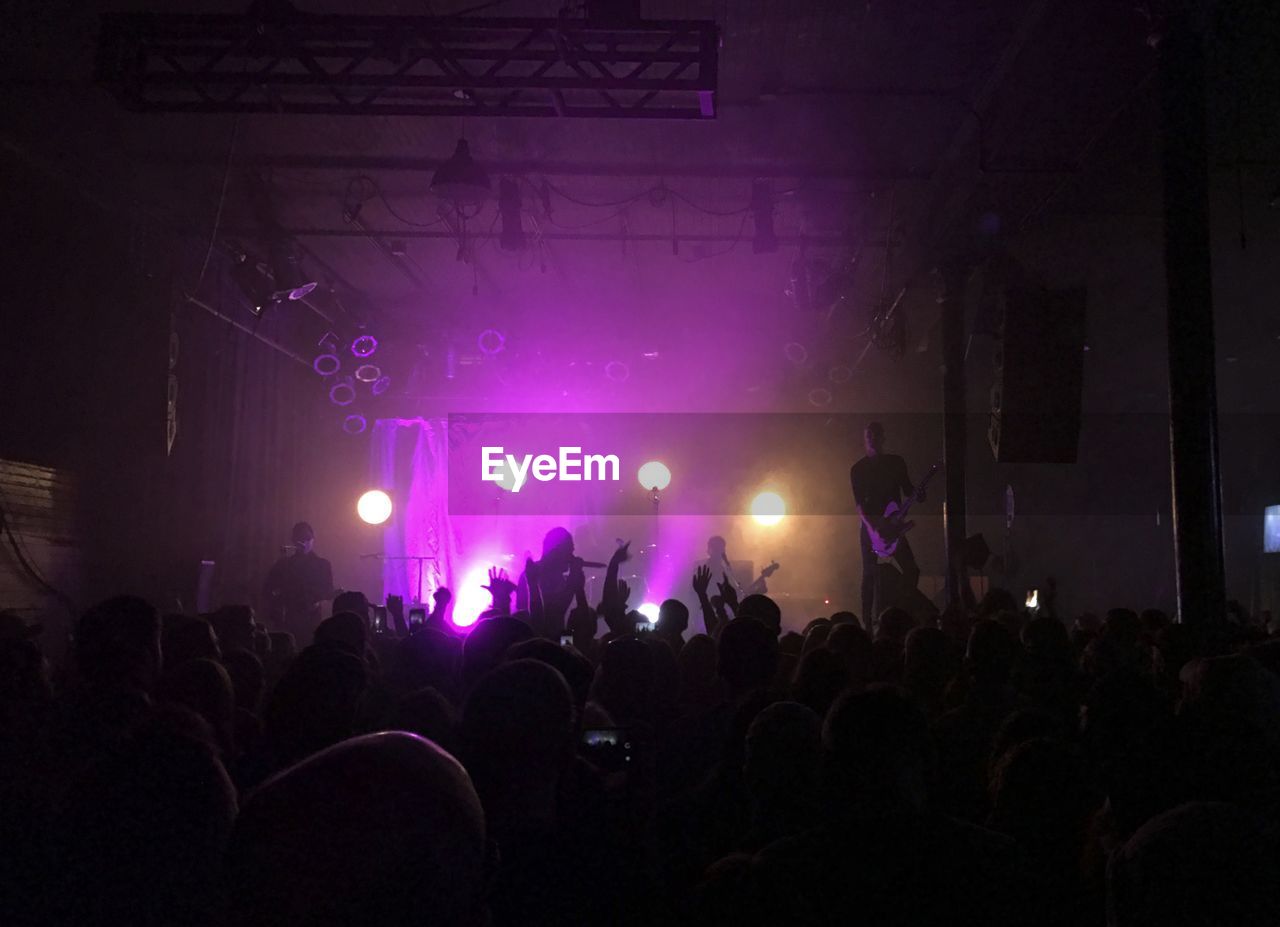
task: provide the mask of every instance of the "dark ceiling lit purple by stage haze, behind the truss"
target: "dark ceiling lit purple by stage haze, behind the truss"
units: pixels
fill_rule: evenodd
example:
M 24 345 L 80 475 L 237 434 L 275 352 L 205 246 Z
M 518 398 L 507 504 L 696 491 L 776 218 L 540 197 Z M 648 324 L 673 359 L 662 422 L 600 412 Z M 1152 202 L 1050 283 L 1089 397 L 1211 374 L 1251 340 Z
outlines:
M 466 6 L 366 0 L 358 12 Z M 558 4 L 488 6 L 476 15 L 549 17 Z M 106 9 L 160 5 L 60 0 L 8 19 L 9 155 L 220 247 L 252 245 L 252 191 L 265 183 L 276 219 L 352 316 L 420 341 L 603 325 L 632 351 L 675 352 L 672 342 L 750 329 L 765 302 L 786 312 L 808 239 L 804 259 L 849 268 L 850 286 L 828 328 L 796 328 L 854 352 L 869 315 L 904 286 L 927 311 L 927 271 L 977 229 L 1010 236 L 1055 211 L 1158 207 L 1148 37 L 1160 20 L 1114 0 L 644 3 L 648 18 L 719 24 L 718 115 L 705 122 L 131 114 L 92 83 Z M 472 261 L 456 260 L 428 184 L 462 136 L 495 178 L 529 182 L 525 251 L 481 238 Z M 751 250 L 755 177 L 776 195 L 777 254 Z M 353 196 L 371 236 L 344 222 Z M 471 228 L 495 222 L 489 205 Z M 563 318 L 527 323 L 550 307 Z

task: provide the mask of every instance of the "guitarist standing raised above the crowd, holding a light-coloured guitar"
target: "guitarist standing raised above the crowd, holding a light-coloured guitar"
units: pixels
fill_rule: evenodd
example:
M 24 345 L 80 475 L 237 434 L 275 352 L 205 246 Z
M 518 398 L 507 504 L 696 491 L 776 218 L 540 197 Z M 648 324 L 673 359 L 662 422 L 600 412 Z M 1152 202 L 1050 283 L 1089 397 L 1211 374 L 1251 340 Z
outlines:
M 896 512 L 902 497 L 924 499 L 924 485 L 916 493 L 906 475 L 906 461 L 897 455 L 884 453 L 884 426 L 872 421 L 863 431 L 867 456 L 854 464 L 849 479 L 854 487 L 854 502 L 861 519 L 859 531 L 863 553 L 863 621 L 868 631 L 874 626 L 876 607 L 876 567 L 879 562 L 877 551 L 892 556 L 902 571 L 908 588 L 915 589 L 920 581 L 920 567 L 915 563 L 911 544 L 905 536 L 901 524 L 887 519 L 887 512 Z M 890 506 L 892 504 L 892 510 Z M 881 608 L 891 603 L 879 603 Z

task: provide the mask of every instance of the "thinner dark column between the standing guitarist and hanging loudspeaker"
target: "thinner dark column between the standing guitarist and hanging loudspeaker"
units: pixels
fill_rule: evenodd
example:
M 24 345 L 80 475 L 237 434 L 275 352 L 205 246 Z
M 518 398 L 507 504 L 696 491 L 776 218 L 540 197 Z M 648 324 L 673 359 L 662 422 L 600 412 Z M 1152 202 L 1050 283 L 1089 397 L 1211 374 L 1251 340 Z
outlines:
M 945 266 L 942 273 L 942 467 L 946 499 L 942 524 L 946 538 L 947 606 L 963 607 L 966 583 L 963 551 L 965 539 L 965 455 L 968 410 L 964 373 L 964 270 Z

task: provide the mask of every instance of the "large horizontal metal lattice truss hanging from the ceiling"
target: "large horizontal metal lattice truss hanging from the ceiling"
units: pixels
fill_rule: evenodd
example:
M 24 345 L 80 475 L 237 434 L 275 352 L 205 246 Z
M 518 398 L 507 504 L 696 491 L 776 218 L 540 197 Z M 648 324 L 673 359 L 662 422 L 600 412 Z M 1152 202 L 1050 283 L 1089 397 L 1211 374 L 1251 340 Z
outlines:
M 708 119 L 709 20 L 108 13 L 97 81 L 145 113 Z

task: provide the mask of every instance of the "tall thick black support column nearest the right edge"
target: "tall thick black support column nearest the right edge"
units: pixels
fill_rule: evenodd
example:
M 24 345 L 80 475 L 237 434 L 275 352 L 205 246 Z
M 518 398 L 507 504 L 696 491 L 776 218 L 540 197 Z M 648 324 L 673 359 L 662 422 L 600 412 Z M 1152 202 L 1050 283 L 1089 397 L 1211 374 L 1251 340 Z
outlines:
M 1203 32 L 1188 15 L 1175 17 L 1160 49 L 1174 557 L 1178 618 L 1212 638 L 1225 622 L 1226 594 L 1204 83 Z

